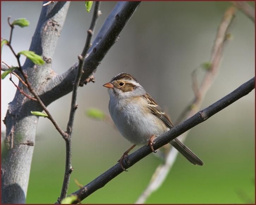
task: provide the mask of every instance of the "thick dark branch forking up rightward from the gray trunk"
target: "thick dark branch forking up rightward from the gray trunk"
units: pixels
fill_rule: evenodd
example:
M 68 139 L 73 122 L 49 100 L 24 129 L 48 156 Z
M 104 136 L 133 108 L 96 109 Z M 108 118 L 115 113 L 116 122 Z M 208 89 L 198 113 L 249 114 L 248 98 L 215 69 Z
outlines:
M 98 67 L 111 46 L 117 41 L 120 32 L 127 24 L 140 1 L 118 2 L 109 17 L 105 20 L 102 28 L 89 49 L 88 57 L 84 62 L 84 73 L 81 82 L 85 81 Z M 118 18 L 113 18 L 113 17 Z M 72 81 L 74 79 L 78 64 L 75 63 L 66 72 L 59 74 L 44 86 L 40 98 L 49 105 L 54 100 L 72 91 Z

